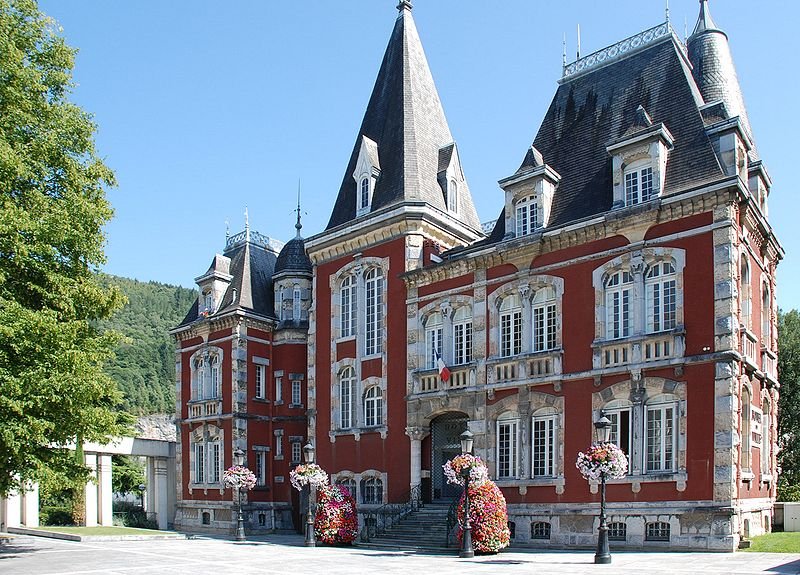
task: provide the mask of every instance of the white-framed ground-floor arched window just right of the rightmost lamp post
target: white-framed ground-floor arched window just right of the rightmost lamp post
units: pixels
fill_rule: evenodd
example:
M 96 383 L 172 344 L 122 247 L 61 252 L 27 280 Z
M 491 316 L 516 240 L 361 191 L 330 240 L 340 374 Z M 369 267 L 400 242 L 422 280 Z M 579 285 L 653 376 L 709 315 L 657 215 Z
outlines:
M 675 470 L 678 404 L 674 396 L 660 395 L 645 404 L 645 466 L 648 473 Z

